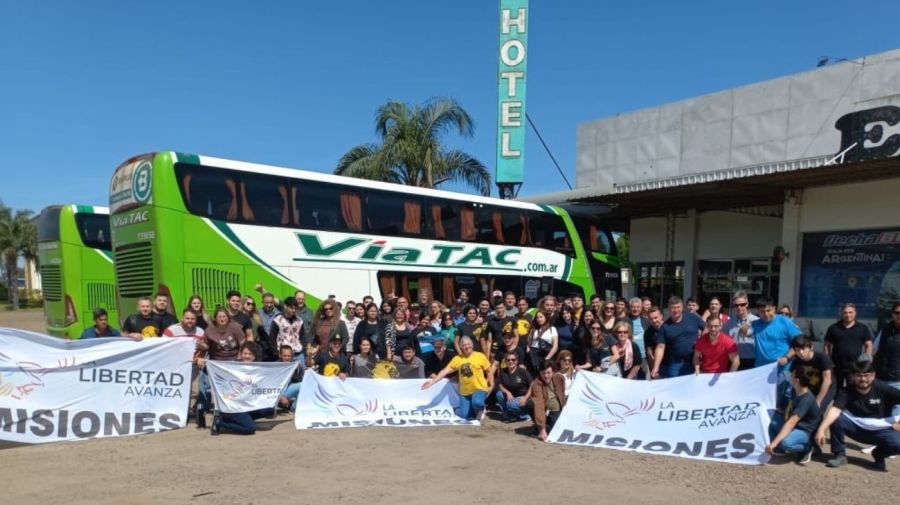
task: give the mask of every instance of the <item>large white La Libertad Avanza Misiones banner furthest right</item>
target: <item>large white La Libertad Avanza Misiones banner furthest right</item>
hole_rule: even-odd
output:
[[[638,381],[580,373],[548,441],[759,465],[776,365]]]

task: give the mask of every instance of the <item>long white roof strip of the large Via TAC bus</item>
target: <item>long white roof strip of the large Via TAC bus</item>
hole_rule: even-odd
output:
[[[347,177],[341,175],[329,174],[326,172],[312,172],[308,170],[300,170],[295,168],[286,168],[279,167],[273,165],[263,165],[259,163],[250,163],[246,161],[237,161],[237,160],[229,160],[225,158],[216,158],[213,156],[203,156],[203,155],[188,155],[184,153],[176,153],[171,152],[172,159],[180,162],[188,162],[193,163],[193,160],[190,158],[195,157],[196,160],[199,160],[200,165],[210,165],[219,168],[226,168],[231,170],[239,170],[243,172],[254,172],[258,174],[266,174],[266,175],[278,175],[282,177],[290,177],[293,179],[306,179],[306,180],[314,180],[321,182],[330,182],[333,184],[344,184],[348,186],[357,186],[362,188],[371,188],[371,189],[381,189],[385,191],[410,191],[413,189],[417,194],[421,194],[424,196],[432,196],[438,198],[447,198],[452,200],[462,200],[466,202],[472,203],[482,203],[487,205],[500,205],[504,207],[514,207],[519,209],[528,209],[528,210],[545,210],[545,207],[541,205],[537,205],[534,203],[528,202],[520,202],[515,200],[501,200],[499,198],[493,197],[485,197],[481,195],[471,195],[467,193],[459,193],[455,191],[443,191],[439,189],[427,189],[427,188],[413,188],[411,186],[406,186],[403,184],[394,184],[389,182],[379,182],[372,181],[367,179],[357,179],[355,177]],[[133,160],[136,157],[130,158],[128,161]],[[186,158],[188,160],[186,160]],[[128,163],[126,161],[125,163]],[[123,165],[125,164],[123,163]]]

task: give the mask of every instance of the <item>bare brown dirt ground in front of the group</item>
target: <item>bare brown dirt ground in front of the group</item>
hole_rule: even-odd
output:
[[[0,326],[41,330],[40,312]],[[851,465],[758,467],[542,443],[525,424],[296,431],[289,415],[256,435],[193,425],[127,438],[0,445],[2,502],[27,503],[889,503],[887,474]],[[893,498],[892,498],[893,497]]]

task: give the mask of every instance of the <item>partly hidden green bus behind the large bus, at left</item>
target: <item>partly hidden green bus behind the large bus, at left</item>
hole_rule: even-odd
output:
[[[116,321],[109,209],[53,205],[38,217],[38,261],[47,333],[75,339],[102,307]],[[111,323],[114,324],[114,323]]]

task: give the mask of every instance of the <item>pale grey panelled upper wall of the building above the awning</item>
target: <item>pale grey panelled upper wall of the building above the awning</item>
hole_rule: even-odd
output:
[[[576,185],[611,192],[614,184],[831,156],[841,151],[835,122],[900,106],[898,89],[893,50],[582,123]]]

